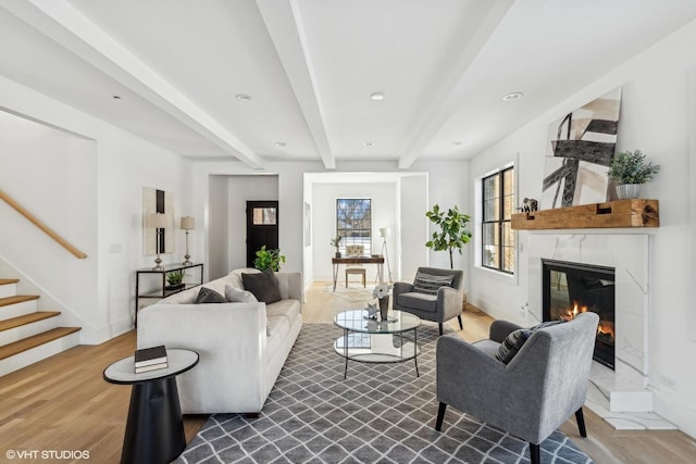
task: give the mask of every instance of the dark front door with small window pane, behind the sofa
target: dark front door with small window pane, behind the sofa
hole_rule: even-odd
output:
[[[247,201],[247,266],[253,267],[257,251],[278,248],[278,202]]]

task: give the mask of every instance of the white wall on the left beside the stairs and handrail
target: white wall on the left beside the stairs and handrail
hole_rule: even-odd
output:
[[[99,343],[130,329],[135,269],[153,265],[152,258],[142,254],[142,187],[173,192],[175,216],[192,215],[190,163],[4,77],[0,77],[0,109],[40,123],[33,127],[2,117],[0,133],[13,131],[20,124],[32,134],[17,137],[11,150],[0,150],[3,186],[11,185],[16,191],[10,195],[88,258],[66,258],[40,237],[25,240],[36,231],[10,220],[14,213],[5,206],[0,206],[8,214],[0,234],[9,237],[0,240],[0,255],[60,302],[62,323],[83,327],[82,343]],[[175,250],[162,256],[164,263],[183,259],[184,234],[176,236]],[[194,256],[200,255],[196,246]],[[16,253],[22,249],[29,251]]]

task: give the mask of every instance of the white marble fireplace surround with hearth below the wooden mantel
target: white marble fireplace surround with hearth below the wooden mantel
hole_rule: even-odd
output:
[[[529,308],[542,321],[542,259],[616,269],[616,371],[593,361],[585,405],[619,429],[675,428],[652,413],[648,389],[649,237],[530,233]]]

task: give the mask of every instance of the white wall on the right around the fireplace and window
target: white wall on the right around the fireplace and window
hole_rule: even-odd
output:
[[[473,181],[473,178],[511,161],[519,152],[519,197],[539,198],[548,125],[598,96],[622,87],[617,149],[639,149],[662,166],[662,171],[642,191],[644,198],[660,201],[660,227],[637,231],[650,236],[649,384],[656,391],[656,412],[691,436],[696,436],[693,401],[696,397],[696,371],[686,368],[684,363],[696,358],[696,343],[689,338],[689,331],[695,327],[689,323],[689,312],[693,311],[689,269],[694,264],[687,260],[687,186],[693,179],[689,179],[686,166],[693,156],[689,156],[687,115],[694,114],[688,110],[687,96],[696,90],[688,88],[688,70],[696,65],[696,55],[685,51],[695,47],[696,22],[692,22],[588,88],[569,96],[556,108],[482,152],[470,165]],[[473,204],[470,208],[473,211]],[[617,229],[596,233],[611,231],[617,233]],[[619,231],[636,233],[629,229]],[[470,298],[495,317],[523,321],[519,308],[529,298],[527,256],[523,250],[529,234],[518,233],[518,242],[522,247],[519,248],[518,279],[472,269]],[[676,380],[675,390],[664,385],[663,375]]]

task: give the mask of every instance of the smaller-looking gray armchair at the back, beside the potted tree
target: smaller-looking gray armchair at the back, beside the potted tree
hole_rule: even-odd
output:
[[[394,284],[393,308],[425,321],[436,322],[439,325],[439,335],[443,335],[443,323],[453,317],[459,319],[459,328],[463,329],[461,311],[464,299],[464,272],[439,267],[419,267],[418,271],[434,276],[455,277],[451,287],[440,287],[437,294],[421,293],[415,291],[413,284],[397,281]]]

